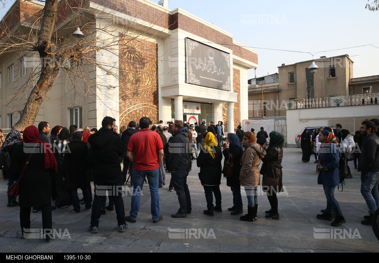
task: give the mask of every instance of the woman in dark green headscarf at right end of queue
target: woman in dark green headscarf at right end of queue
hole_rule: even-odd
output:
[[[262,168],[260,173],[263,175],[262,187],[263,191],[267,192],[267,198],[270,202],[271,209],[266,211],[266,218],[279,219],[278,199],[276,194],[283,191],[282,184],[282,159],[284,147],[284,135],[277,131],[271,131],[269,147],[266,150],[266,156],[262,159]],[[267,142],[263,147],[267,146]],[[276,188],[264,185],[265,177],[279,178],[279,183]]]

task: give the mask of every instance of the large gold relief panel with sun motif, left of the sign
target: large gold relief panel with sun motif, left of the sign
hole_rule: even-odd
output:
[[[157,44],[125,38],[119,55],[120,127],[141,117],[158,123]]]

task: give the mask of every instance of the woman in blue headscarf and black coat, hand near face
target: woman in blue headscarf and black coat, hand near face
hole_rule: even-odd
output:
[[[242,197],[241,197],[241,185],[240,185],[240,172],[241,172],[241,157],[243,149],[240,146],[240,139],[234,133],[228,133],[226,136],[226,142],[222,145],[224,151],[222,154],[225,157],[224,166],[229,159],[229,155],[233,158],[233,176],[226,178],[226,185],[230,186],[233,193],[233,207],[228,208],[229,211],[233,211],[230,214],[242,214]]]

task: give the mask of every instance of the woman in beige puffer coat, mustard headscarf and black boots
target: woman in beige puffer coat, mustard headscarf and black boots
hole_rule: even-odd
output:
[[[266,151],[257,144],[255,134],[246,131],[243,133],[245,150],[241,158],[240,183],[244,186],[247,197],[247,214],[241,216],[242,221],[253,222],[257,219],[258,196],[257,186],[260,182],[259,164],[265,157]]]

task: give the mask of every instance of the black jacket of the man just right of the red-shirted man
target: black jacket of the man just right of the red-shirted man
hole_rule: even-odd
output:
[[[191,168],[189,160],[189,139],[187,128],[180,128],[172,138],[169,139],[170,168],[171,171],[188,170]]]

